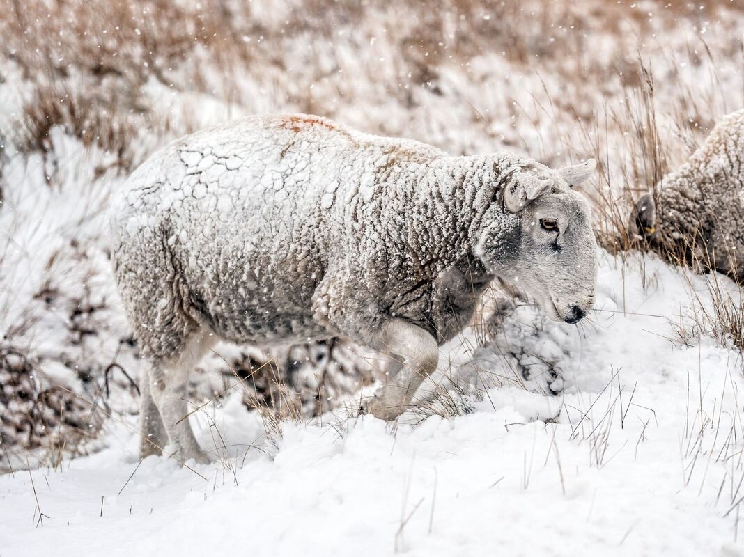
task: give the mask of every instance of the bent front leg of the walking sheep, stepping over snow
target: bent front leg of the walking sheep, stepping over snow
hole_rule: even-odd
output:
[[[389,358],[386,382],[362,411],[390,421],[410,408],[421,382],[437,369],[439,347],[429,332],[403,319],[386,322],[376,344]]]

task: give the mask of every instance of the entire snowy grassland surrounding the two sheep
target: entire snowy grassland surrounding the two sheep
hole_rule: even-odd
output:
[[[0,33],[2,556],[744,555],[739,287],[626,232],[744,106],[739,4],[33,0]],[[109,199],[167,141],[264,112],[597,159],[594,311],[494,285],[394,425],[356,415],[365,347],[219,344],[189,394],[214,463],[140,462]]]

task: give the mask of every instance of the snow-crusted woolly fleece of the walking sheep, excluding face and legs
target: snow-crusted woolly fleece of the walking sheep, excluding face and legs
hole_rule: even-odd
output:
[[[527,169],[554,176],[528,158],[450,157],[304,115],[190,135],[136,170],[112,212],[135,336],[155,359],[202,326],[238,343],[372,344],[403,315],[447,341],[492,278],[472,260],[484,227],[504,266],[517,257],[519,217],[493,201]]]

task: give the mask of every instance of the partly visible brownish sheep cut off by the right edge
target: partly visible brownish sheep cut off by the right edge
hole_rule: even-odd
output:
[[[744,109],[638,199],[629,233],[670,260],[744,282]]]

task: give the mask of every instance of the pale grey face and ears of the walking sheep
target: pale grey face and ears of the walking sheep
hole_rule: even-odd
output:
[[[506,235],[503,225],[486,227],[476,247],[490,272],[536,298],[556,321],[577,323],[594,305],[597,244],[589,204],[572,188],[595,166],[590,159],[557,171],[522,168],[503,196],[507,218],[516,222]]]

